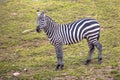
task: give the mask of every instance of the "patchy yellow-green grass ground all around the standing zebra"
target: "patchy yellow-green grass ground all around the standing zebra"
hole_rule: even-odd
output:
[[[0,0],[0,80],[119,80],[120,79],[120,1],[119,0]],[[56,55],[44,32],[36,28],[39,8],[58,23],[92,17],[102,31],[103,63],[97,64],[97,51],[85,66],[86,40],[65,45],[65,67],[55,71]],[[27,71],[24,71],[27,69]],[[14,72],[19,72],[17,77]]]

